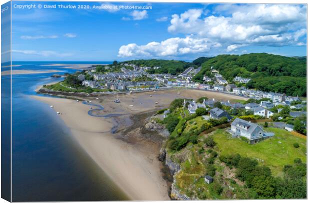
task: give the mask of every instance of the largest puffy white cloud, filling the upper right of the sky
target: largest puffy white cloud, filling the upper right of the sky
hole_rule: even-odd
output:
[[[229,7],[221,6],[221,11]],[[220,43],[259,43],[262,38],[271,43],[289,39],[286,44],[296,43],[303,36],[306,7],[292,4],[250,4],[233,6],[231,15],[202,16],[202,9],[189,9],[173,14],[168,27],[172,33],[195,34]],[[300,29],[295,33],[295,30]],[[283,36],[284,35],[284,36]],[[277,44],[279,45],[279,44]]]

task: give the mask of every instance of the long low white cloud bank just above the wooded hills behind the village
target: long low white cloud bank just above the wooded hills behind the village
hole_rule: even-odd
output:
[[[118,50],[119,57],[164,57],[182,54],[192,54],[208,51],[212,47],[220,47],[221,44],[212,42],[208,38],[168,38],[166,40],[156,42],[152,41],[145,45],[137,45],[129,43],[122,45]]]

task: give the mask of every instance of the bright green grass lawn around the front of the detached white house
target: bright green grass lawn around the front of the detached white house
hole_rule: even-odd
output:
[[[306,162],[306,140],[292,135],[290,132],[267,127],[266,131],[275,135],[255,144],[248,144],[240,138],[232,138],[224,129],[213,133],[216,149],[222,154],[239,153],[241,156],[256,158],[260,164],[270,167],[273,175],[281,176],[285,164],[292,164],[295,158]],[[299,144],[298,148],[293,143]]]

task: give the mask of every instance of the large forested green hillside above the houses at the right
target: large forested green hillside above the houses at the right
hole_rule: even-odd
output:
[[[246,84],[248,88],[306,95],[306,62],[299,58],[267,53],[218,55],[201,66],[194,81],[202,82],[203,75],[211,74],[210,67],[213,66],[228,80],[235,76],[250,77]]]

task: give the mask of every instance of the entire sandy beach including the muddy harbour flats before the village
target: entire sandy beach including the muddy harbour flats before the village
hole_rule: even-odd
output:
[[[70,128],[80,146],[132,200],[169,199],[167,182],[162,178],[162,163],[157,159],[161,143],[145,138],[148,135],[144,137],[138,128],[126,130],[131,124],[144,124],[144,118],[133,121],[132,116],[167,107],[175,98],[207,96],[216,100],[246,99],[219,92],[177,88],[119,94],[119,103],[113,102],[114,96],[105,94],[96,99],[89,95],[87,98],[79,97],[80,101],[42,96],[33,98],[53,105],[53,109],[60,112],[59,117]],[[91,106],[81,103],[85,99],[104,106],[104,109],[94,110],[94,114],[117,114],[120,117],[87,114]],[[116,124],[119,130],[112,133],[111,129]]]

